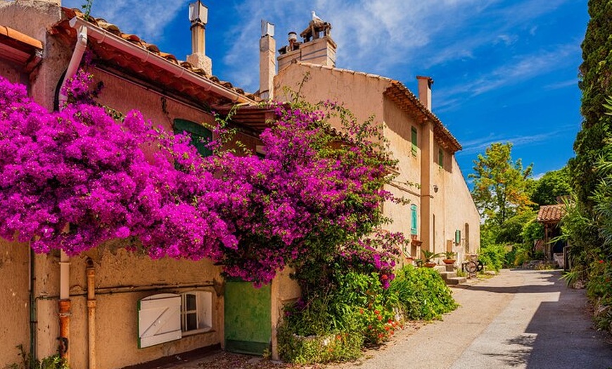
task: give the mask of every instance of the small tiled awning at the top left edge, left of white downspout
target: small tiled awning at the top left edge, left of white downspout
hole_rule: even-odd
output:
[[[42,57],[42,42],[0,25],[0,58],[20,65],[36,63]]]

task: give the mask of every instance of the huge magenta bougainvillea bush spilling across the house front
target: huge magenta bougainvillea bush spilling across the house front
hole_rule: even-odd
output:
[[[329,258],[393,278],[398,236],[371,236],[393,166],[372,125],[334,104],[326,113],[279,104],[261,135],[265,158],[203,158],[190,137],[139,111],[114,119],[95,104],[91,79],[79,71],[68,104],[49,112],[0,77],[2,237],[69,255],[118,237],[153,258],[209,258],[255,284]],[[340,143],[331,115],[346,123]]]

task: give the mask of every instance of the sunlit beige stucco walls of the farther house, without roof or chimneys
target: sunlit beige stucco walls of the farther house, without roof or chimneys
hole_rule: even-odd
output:
[[[475,252],[479,245],[480,218],[476,206],[473,204],[471,195],[465,179],[459,170],[457,161],[449,151],[444,151],[443,165],[438,164],[438,149],[440,148],[437,137],[433,137],[431,147],[431,186],[436,184],[438,192],[433,189],[411,187],[406,182],[423,184],[423,130],[425,126],[416,122],[412,115],[404,113],[397,105],[383,95],[389,86],[390,80],[374,77],[364,73],[352,71],[334,70],[332,68],[317,65],[300,65],[293,63],[288,65],[275,78],[275,89],[278,92],[277,99],[282,100],[282,87],[288,86],[297,90],[305,75],[309,75],[307,82],[302,86],[301,94],[310,102],[338,101],[343,103],[355,114],[358,120],[365,120],[372,114],[375,122],[382,122],[384,134],[390,144],[390,151],[398,160],[397,168],[399,175],[393,184],[385,187],[394,196],[409,199],[412,204],[418,206],[418,239],[427,239],[423,232],[430,234],[433,247],[431,251],[436,253],[450,249],[463,257],[466,241],[465,228],[469,225],[470,251]],[[412,127],[417,130],[416,156],[412,154]],[[421,216],[423,196],[431,194],[431,213],[429,220]],[[388,225],[390,231],[410,233],[411,218],[409,206],[402,206],[386,202],[383,213],[393,219],[393,224]],[[431,222],[427,227],[426,222]],[[455,230],[461,230],[461,243],[452,244]],[[429,245],[423,244],[423,247]],[[419,257],[419,250],[411,248],[411,253]]]

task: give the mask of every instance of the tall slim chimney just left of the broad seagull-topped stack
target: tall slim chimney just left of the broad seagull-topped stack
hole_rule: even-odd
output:
[[[276,40],[274,25],[262,20],[260,39],[260,97],[274,99],[274,75],[276,74]]]

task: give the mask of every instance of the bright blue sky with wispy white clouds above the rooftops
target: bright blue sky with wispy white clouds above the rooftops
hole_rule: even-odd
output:
[[[64,0],[79,7],[84,0]],[[189,0],[94,0],[91,12],[184,60],[191,53]],[[433,77],[433,112],[464,146],[471,173],[492,142],[535,176],[573,156],[580,130],[578,67],[587,0],[203,1],[213,74],[248,92],[258,88],[260,20],[276,25],[276,44],[300,32],[314,10],[332,26],[338,68],[400,80]]]

